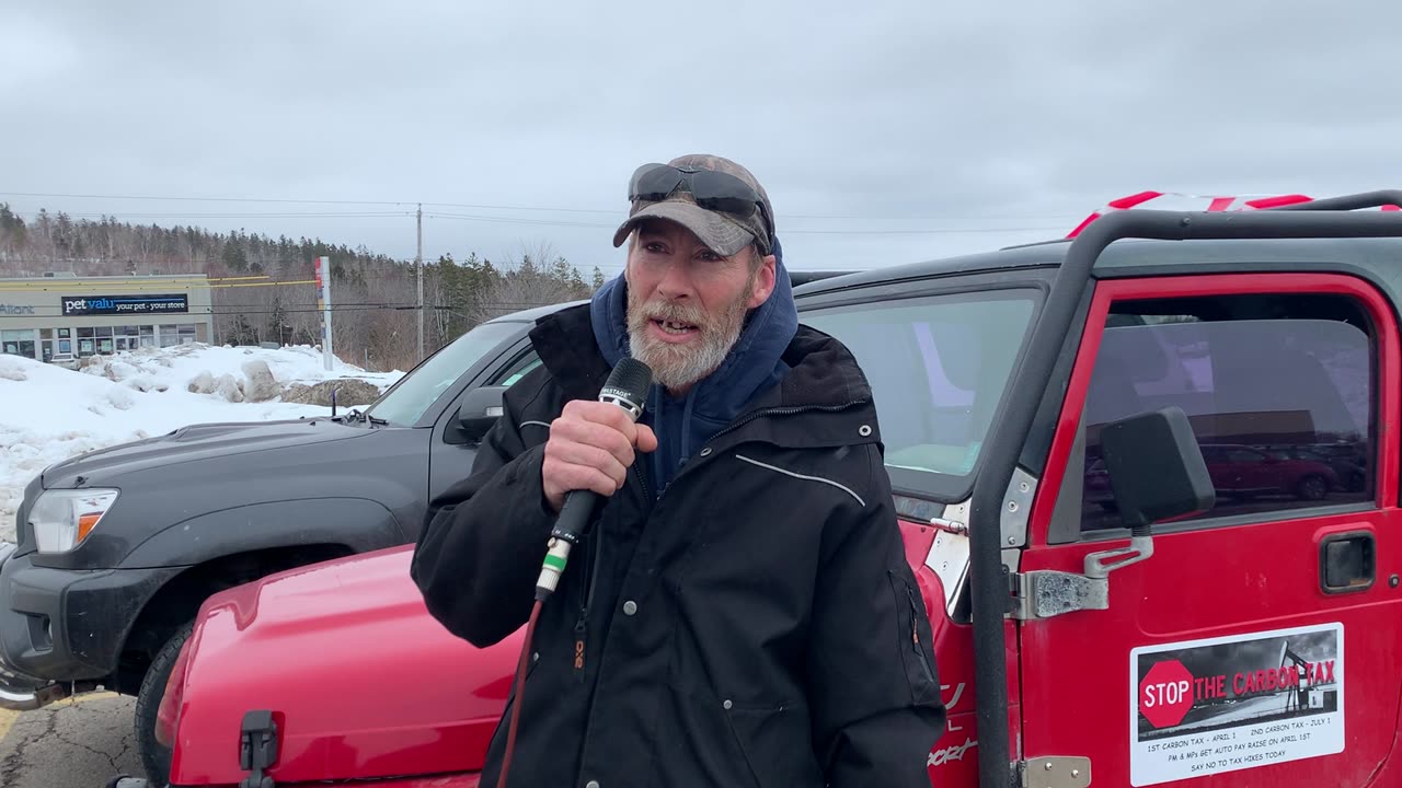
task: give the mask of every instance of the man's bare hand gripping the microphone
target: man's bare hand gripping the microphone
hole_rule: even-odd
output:
[[[656,449],[658,436],[652,428],[634,423],[618,405],[572,400],[550,425],[540,470],[545,501],[559,512],[565,494],[572,489],[610,496],[627,481],[634,450]]]

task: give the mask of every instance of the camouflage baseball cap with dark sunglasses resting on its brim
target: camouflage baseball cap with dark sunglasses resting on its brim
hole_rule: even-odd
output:
[[[614,248],[644,220],[666,219],[691,230],[707,248],[725,257],[751,243],[760,254],[774,251],[770,198],[749,170],[729,158],[688,154],[666,165],[644,164],[628,184],[628,198],[632,208],[614,233]]]

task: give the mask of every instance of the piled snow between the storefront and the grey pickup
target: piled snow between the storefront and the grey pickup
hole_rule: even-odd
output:
[[[102,356],[77,372],[0,355],[0,541],[14,540],[24,487],[60,460],[189,423],[328,414],[321,405],[282,402],[278,397],[248,401],[245,393],[254,393],[245,369],[250,362],[265,362],[279,390],[292,383],[311,386],[353,377],[383,391],[404,374],[366,373],[339,360],[327,372],[321,352],[308,346],[143,348]],[[251,366],[258,369],[257,363]],[[196,391],[191,391],[192,384]],[[266,384],[264,380],[265,390]]]

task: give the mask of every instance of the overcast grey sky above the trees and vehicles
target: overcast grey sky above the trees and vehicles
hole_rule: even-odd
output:
[[[754,171],[792,268],[1063,236],[1143,189],[1402,186],[1402,3],[1326,8],[0,0],[0,201],[401,258],[422,201],[426,258],[614,273],[628,175],[681,153]]]

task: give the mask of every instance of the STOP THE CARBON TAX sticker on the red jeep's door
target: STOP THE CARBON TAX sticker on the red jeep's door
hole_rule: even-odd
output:
[[[1130,782],[1343,752],[1343,624],[1130,652]]]

